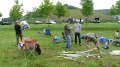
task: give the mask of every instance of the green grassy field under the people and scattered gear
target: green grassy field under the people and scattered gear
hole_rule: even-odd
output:
[[[120,56],[108,54],[109,51],[120,49],[120,47],[110,45],[110,49],[104,50],[101,44],[100,50],[107,53],[101,55],[101,59],[86,57],[79,57],[76,60],[65,59],[58,57],[61,50],[84,51],[87,49],[84,45],[74,46],[74,42],[72,42],[71,50],[65,48],[65,42],[61,35],[64,24],[55,24],[49,27],[45,24],[31,24],[30,27],[30,30],[23,31],[23,36],[38,40],[42,50],[41,55],[37,57],[32,54],[25,58],[25,55],[28,56],[28,52],[23,54],[21,50],[17,49],[14,26],[0,25],[0,67],[120,67]],[[71,24],[71,27],[73,27],[73,24]],[[53,43],[52,37],[43,33],[44,29],[50,29],[53,35],[61,38],[61,42]],[[114,32],[119,29],[120,24],[82,24],[81,34],[94,32],[98,33],[99,37],[104,36],[113,39]],[[38,34],[38,32],[42,34]],[[93,46],[92,43],[91,46]],[[97,52],[93,51],[93,53]]]

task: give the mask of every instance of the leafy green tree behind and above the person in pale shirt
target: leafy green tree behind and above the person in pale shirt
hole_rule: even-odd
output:
[[[86,22],[87,17],[93,14],[94,7],[93,7],[93,1],[92,0],[81,0],[81,13],[86,17]]]

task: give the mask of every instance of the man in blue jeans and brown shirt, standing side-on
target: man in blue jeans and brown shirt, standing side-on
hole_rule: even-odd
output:
[[[66,24],[64,26],[64,33],[66,38],[66,48],[71,48],[71,28],[70,28],[70,22],[66,21]]]

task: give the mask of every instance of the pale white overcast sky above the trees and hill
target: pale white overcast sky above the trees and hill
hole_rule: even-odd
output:
[[[19,0],[20,3],[23,4],[24,14],[27,11],[32,11],[33,8],[37,8],[43,0]],[[69,4],[75,7],[80,6],[80,0],[50,0],[53,4],[56,4],[60,1],[62,4]],[[112,5],[114,5],[118,0],[93,0],[94,9],[110,9]],[[0,0],[0,12],[2,13],[2,17],[9,17],[9,11],[14,5],[14,0]]]

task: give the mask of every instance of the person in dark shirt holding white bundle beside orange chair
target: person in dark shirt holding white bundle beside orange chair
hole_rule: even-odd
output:
[[[21,30],[21,26],[20,26],[19,21],[16,21],[14,28],[15,28],[15,32],[16,32],[16,42],[17,42],[17,45],[18,45],[19,38],[22,41],[22,30]]]

